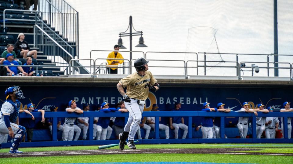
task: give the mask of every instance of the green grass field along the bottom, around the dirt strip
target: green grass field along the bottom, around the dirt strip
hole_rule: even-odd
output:
[[[261,148],[257,151],[267,153],[293,153],[293,144],[171,144],[136,145],[137,149],[191,149],[191,148]],[[98,146],[20,148],[24,152],[97,150]],[[118,149],[113,147],[110,149]],[[6,153],[9,149],[1,149]],[[50,157],[0,158],[0,163],[88,163],[88,162],[215,162],[215,163],[293,163],[293,156],[280,155],[231,155],[231,154],[173,154],[142,153],[116,155],[73,155]]]

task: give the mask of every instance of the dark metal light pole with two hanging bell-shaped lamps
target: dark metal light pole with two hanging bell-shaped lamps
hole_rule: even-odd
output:
[[[130,28],[129,28],[130,27]],[[123,46],[122,44],[122,39],[121,37],[124,37],[124,36],[129,36],[129,41],[130,41],[130,60],[132,60],[132,36],[140,36],[139,37],[139,44],[136,45],[136,47],[147,47],[144,43],[143,43],[143,31],[136,31],[134,29],[134,31],[136,32],[132,32],[132,28],[134,29],[133,25],[132,25],[132,16],[130,15],[129,16],[129,25],[128,25],[128,28],[125,32],[120,32],[119,33],[119,39],[118,39],[118,45],[121,49],[125,49],[126,47]],[[129,29],[129,33],[126,33]]]

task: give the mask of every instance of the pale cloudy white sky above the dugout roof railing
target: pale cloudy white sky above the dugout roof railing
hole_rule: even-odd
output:
[[[213,34],[221,53],[273,53],[273,0],[67,0],[79,12],[80,58],[89,58],[91,50],[113,50],[119,32],[124,32],[132,15],[133,26],[143,31],[147,48],[135,47],[139,36],[133,36],[133,51],[216,52]],[[278,1],[279,54],[293,54],[293,1]],[[190,32],[190,33],[189,33]],[[189,38],[188,38],[189,37]],[[129,50],[129,37],[122,37]],[[122,50],[122,49],[121,49]],[[93,58],[106,58],[95,53]],[[122,53],[129,59],[128,53]],[[139,54],[134,54],[137,58]],[[190,60],[181,54],[150,54],[149,59]],[[219,59],[215,58],[214,60]],[[290,58],[290,61],[293,58]],[[225,59],[226,61],[231,61]],[[234,60],[234,58],[233,58]],[[288,60],[288,58],[286,59]],[[101,61],[102,62],[102,61]]]

